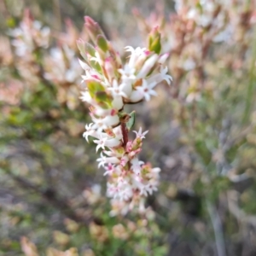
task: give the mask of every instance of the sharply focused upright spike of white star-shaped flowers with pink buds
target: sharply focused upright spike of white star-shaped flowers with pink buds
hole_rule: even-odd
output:
[[[102,149],[97,161],[106,170],[104,175],[108,175],[107,195],[113,198],[113,204],[122,201],[127,209],[137,205],[143,211],[143,197],[157,190],[160,168],[138,160],[148,131],[143,132],[142,128],[134,131],[136,137],[130,141],[128,131],[134,115],[123,110],[125,104],[149,101],[151,96],[156,96],[154,87],[160,82],[166,80],[170,84],[172,77],[163,67],[168,55],[160,55],[160,33],[154,28],[149,34],[148,49],[125,48],[130,56],[123,65],[100,26],[85,17],[85,27],[95,46],[78,41],[84,58],[79,61],[85,71],[82,83],[86,84],[81,99],[90,103],[93,121],[85,125],[84,137],[87,141],[93,137],[96,151]]]

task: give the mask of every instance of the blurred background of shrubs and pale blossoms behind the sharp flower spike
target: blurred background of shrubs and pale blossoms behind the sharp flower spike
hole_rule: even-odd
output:
[[[252,0],[0,2],[0,255],[256,255]],[[84,15],[125,61],[159,26],[171,86],[132,105],[160,186],[144,214],[105,196],[79,99]]]

